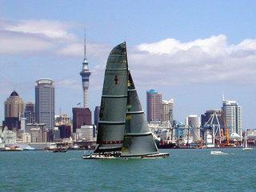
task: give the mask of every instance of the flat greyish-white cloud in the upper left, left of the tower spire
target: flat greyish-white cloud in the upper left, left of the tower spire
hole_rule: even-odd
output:
[[[67,22],[47,20],[0,20],[0,54],[55,52],[60,46],[74,43]]]

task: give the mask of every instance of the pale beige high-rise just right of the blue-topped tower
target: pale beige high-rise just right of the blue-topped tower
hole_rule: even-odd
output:
[[[169,101],[162,100],[162,122],[170,122],[170,125],[174,121],[174,99]]]

